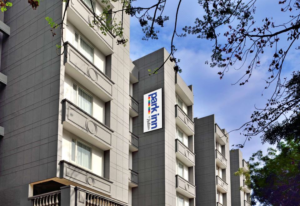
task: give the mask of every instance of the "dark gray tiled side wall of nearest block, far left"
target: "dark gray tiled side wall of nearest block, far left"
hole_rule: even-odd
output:
[[[62,18],[62,1],[41,1],[37,10],[26,0],[15,0],[4,13],[10,36],[3,37],[1,73],[7,86],[0,89],[0,202],[24,205],[28,184],[55,177],[58,163],[58,108],[60,56],[45,20]],[[5,200],[5,201],[4,201]],[[21,201],[21,203],[20,203]]]

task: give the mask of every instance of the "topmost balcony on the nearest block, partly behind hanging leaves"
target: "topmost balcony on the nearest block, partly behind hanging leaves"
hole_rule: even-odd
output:
[[[113,34],[104,35],[97,26],[94,28],[89,26],[93,23],[94,16],[92,10],[82,0],[73,0],[72,3],[69,3],[67,20],[77,27],[105,56],[113,53]],[[97,17],[96,21],[99,21]]]

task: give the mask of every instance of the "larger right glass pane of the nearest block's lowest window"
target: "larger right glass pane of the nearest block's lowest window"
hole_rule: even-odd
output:
[[[91,169],[91,148],[81,142],[77,142],[77,164]]]

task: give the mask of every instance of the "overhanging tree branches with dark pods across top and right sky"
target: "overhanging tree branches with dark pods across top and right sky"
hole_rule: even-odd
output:
[[[53,22],[51,17],[46,17],[53,35],[56,35],[55,29],[58,27],[60,27],[62,34],[64,31],[63,22],[70,0],[62,1],[65,8],[61,22]],[[169,17],[165,15],[165,7],[166,2],[171,2],[170,0],[148,1],[150,6],[147,7],[143,7],[136,0],[100,0],[103,5],[107,5],[103,8],[102,13],[96,13],[92,0],[90,1],[93,14],[90,27],[98,27],[104,35],[112,34],[116,38],[117,44],[121,45],[126,45],[128,42],[128,39],[123,35],[125,14],[138,19],[144,33],[143,40],[158,39],[164,23],[169,20]],[[114,2],[120,2],[122,7],[111,8],[109,3]],[[292,91],[288,91],[289,89],[298,90],[299,84],[296,78],[299,77],[299,72],[292,74],[291,79],[294,79],[293,81],[282,77],[281,74],[285,59],[290,51],[300,49],[300,46],[297,45],[300,35],[300,0],[277,0],[275,2],[281,6],[280,10],[272,14],[268,13],[268,16],[263,19],[255,19],[253,14],[256,12],[257,0],[197,0],[199,10],[202,10],[204,15],[199,15],[194,22],[187,20],[187,25],[181,33],[177,25],[178,13],[182,3],[190,2],[176,1],[174,29],[170,31],[172,33],[170,55],[165,60],[165,62],[170,60],[175,63],[175,72],[182,70],[178,65],[180,60],[175,57],[176,48],[173,40],[175,37],[185,37],[189,34],[213,42],[212,55],[206,64],[218,69],[220,79],[224,77],[226,71],[232,68],[244,71],[244,74],[237,77],[237,81],[234,83],[240,86],[250,81],[252,72],[261,65],[262,57],[265,57],[266,53],[272,53],[272,55],[267,56],[271,63],[265,68],[269,72],[265,89],[269,88],[272,83],[275,84],[275,89],[266,102],[266,106],[261,109],[256,108],[250,118],[251,120],[242,125],[243,134],[246,136],[245,141],[250,140],[254,135],[263,134],[272,125],[279,124],[276,121],[280,117],[287,115],[287,121],[289,121],[299,113],[299,96],[293,94],[289,96]],[[28,3],[33,9],[36,9],[40,1],[28,0]],[[2,11],[5,11],[6,7],[9,6],[11,4],[1,3],[0,0]],[[278,13],[285,15],[286,18],[274,22],[272,16],[275,17]],[[227,26],[228,29],[221,34],[224,26]],[[64,42],[62,45],[57,45],[58,54],[63,54],[65,49]],[[299,60],[295,59],[295,61]],[[154,69],[149,68],[149,74],[157,73],[163,64]],[[289,98],[285,98],[285,95],[288,95]],[[273,140],[272,136],[266,138],[264,135],[262,135],[262,140],[270,143],[280,141],[280,139]],[[238,146],[243,147],[244,144]]]

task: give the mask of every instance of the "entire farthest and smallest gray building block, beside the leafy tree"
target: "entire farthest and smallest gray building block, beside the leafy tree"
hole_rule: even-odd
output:
[[[251,190],[245,185],[245,177],[234,175],[239,168],[247,171],[249,162],[243,159],[241,150],[230,150],[231,204],[232,206],[250,206]]]

